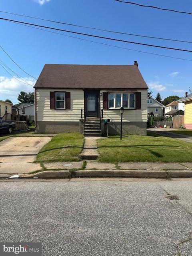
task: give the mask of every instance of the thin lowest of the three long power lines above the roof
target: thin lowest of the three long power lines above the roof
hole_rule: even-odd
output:
[[[22,26],[26,26],[26,27],[29,27],[29,28],[35,28],[35,29],[38,29],[38,30],[50,32],[50,33],[53,33],[53,34],[58,34],[58,35],[61,35],[61,36],[67,36],[67,37],[76,38],[76,39],[79,39],[79,40],[84,40],[84,41],[88,41],[88,42],[92,42],[92,43],[96,43],[96,44],[102,44],[102,45],[106,45],[106,46],[116,47],[116,48],[120,48],[120,49],[124,49],[124,50],[130,50],[130,51],[134,51],[134,52],[142,52],[142,53],[146,53],[146,54],[157,55],[157,56],[160,56],[160,57],[174,58],[174,59],[178,59],[178,60],[192,61],[192,60],[189,60],[189,59],[177,58],[177,57],[173,57],[173,56],[156,54],[156,53],[152,53],[152,52],[144,52],[144,51],[139,51],[139,50],[133,50],[133,49],[129,49],[129,48],[121,47],[121,46],[115,46],[115,45],[112,45],[112,44],[104,44],[104,43],[100,43],[100,42],[96,42],[96,41],[92,41],[92,40],[88,40],[88,39],[84,39],[84,38],[79,38],[79,37],[75,37],[75,36],[68,36],[68,35],[65,35],[65,34],[58,33],[58,32],[53,32],[53,31],[50,31],[50,30],[42,29],[42,28],[36,28],[36,27],[33,27],[33,26],[20,24],[20,23],[17,23],[17,22],[12,22],[12,23],[22,25]]]

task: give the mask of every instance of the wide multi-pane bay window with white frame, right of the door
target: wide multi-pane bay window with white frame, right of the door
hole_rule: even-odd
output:
[[[109,108],[135,108],[135,93],[109,93],[108,94]]]

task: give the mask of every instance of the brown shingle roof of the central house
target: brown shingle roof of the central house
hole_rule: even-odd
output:
[[[45,64],[35,88],[147,89],[136,65]]]

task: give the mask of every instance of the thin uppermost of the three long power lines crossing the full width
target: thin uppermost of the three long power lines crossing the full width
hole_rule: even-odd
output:
[[[76,27],[79,27],[79,28],[90,28],[90,29],[94,29],[94,30],[99,30],[99,31],[104,31],[104,32],[111,32],[111,33],[128,35],[128,36],[139,36],[139,37],[144,37],[144,38],[153,38],[153,39],[168,40],[168,41],[183,42],[183,43],[190,43],[190,44],[192,44],[192,42],[190,42],[190,41],[176,40],[176,39],[170,39],[170,38],[161,38],[161,37],[155,37],[155,36],[144,36],[144,35],[138,35],[138,34],[118,32],[118,31],[114,31],[114,30],[106,30],[106,29],[101,29],[101,28],[93,28],[93,27],[88,27],[88,26],[80,26],[80,25],[77,25],[77,24],[71,24],[71,23],[66,23],[66,22],[59,22],[59,21],[56,21],[56,20],[46,20],[46,19],[43,19],[43,18],[37,18],[37,17],[23,15],[23,14],[16,14],[16,13],[12,13],[12,12],[4,12],[4,11],[0,11],[0,12],[7,13],[7,14],[12,14],[12,15],[17,15],[17,16],[22,16],[22,17],[27,17],[27,18],[32,18],[32,19],[37,19],[37,20],[44,20],[44,21],[48,21],[48,22],[54,22],[54,23],[58,23],[58,24],[64,24],[64,25],[68,25],[68,26],[76,26]]]

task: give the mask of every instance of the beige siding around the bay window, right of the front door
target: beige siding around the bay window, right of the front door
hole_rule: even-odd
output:
[[[106,92],[106,90],[101,90],[101,92]],[[137,92],[141,92],[141,109],[125,109],[124,122],[147,122],[147,90],[137,90]],[[103,108],[102,97],[100,97],[100,108]],[[120,110],[103,110],[103,118],[120,122]]]

